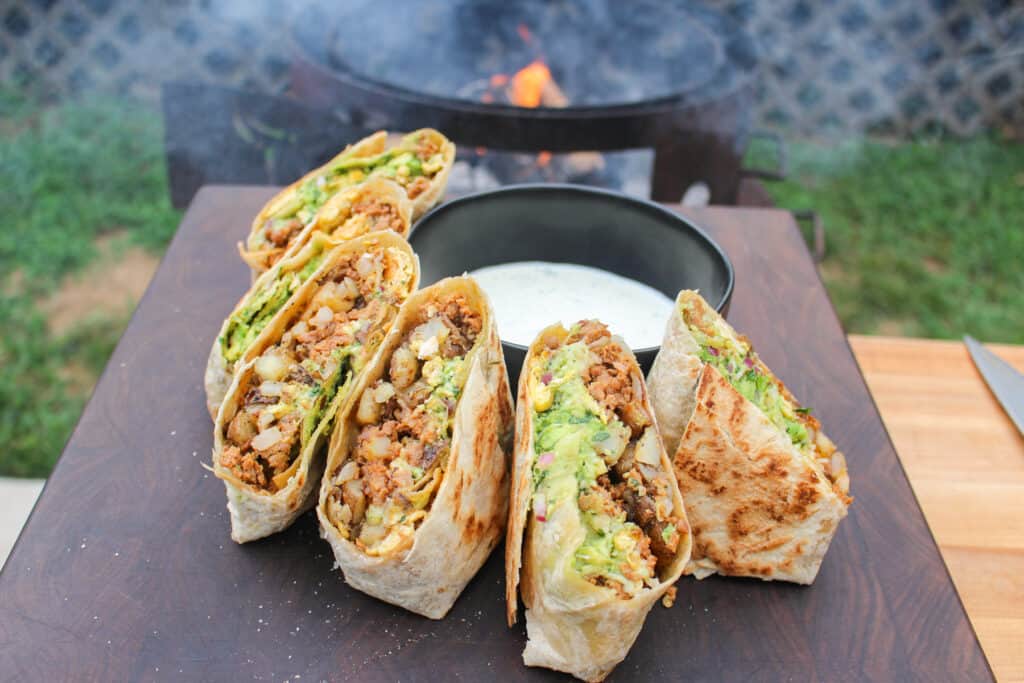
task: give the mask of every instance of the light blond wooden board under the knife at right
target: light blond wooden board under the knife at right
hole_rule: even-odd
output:
[[[964,344],[850,345],[996,677],[1024,681],[1024,438]],[[989,348],[1024,372],[1024,347]]]

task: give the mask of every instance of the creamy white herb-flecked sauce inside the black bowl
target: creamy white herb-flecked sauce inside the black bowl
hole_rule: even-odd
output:
[[[574,263],[520,261],[472,271],[490,298],[502,339],[529,346],[561,322],[597,318],[632,348],[662,343],[673,301],[642,283]]]

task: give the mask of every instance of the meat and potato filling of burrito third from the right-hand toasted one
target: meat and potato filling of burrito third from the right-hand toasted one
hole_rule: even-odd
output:
[[[256,358],[220,454],[242,482],[279,490],[303,450],[329,433],[336,403],[374,350],[368,337],[406,296],[410,275],[389,251],[341,259],[281,340]]]

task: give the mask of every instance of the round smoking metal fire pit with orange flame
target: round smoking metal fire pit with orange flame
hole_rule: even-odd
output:
[[[705,182],[735,201],[757,56],[725,15],[611,0],[381,7],[299,14],[292,90],[305,103],[367,127],[439,128],[500,182],[615,186],[635,161],[579,153],[646,147],[653,199]]]

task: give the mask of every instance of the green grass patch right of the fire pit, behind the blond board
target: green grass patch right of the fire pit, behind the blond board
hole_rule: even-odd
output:
[[[787,209],[822,217],[851,333],[1024,343],[1024,144],[979,136],[791,143]]]

